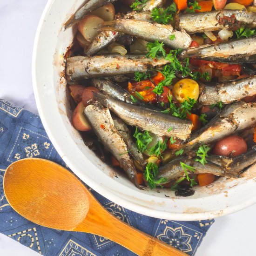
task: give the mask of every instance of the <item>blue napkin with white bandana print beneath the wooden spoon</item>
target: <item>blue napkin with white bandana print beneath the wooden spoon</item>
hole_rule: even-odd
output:
[[[134,256],[135,254],[102,236],[48,229],[29,222],[8,204],[3,191],[5,169],[14,161],[40,157],[65,167],[53,147],[38,115],[0,100],[0,232],[46,256]],[[112,214],[165,243],[195,255],[214,220],[178,222],[144,216],[109,201],[90,189]]]

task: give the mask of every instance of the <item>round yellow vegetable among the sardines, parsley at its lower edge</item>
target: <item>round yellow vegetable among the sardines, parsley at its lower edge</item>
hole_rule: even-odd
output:
[[[172,94],[181,103],[185,100],[188,101],[189,98],[197,101],[199,97],[199,85],[192,79],[184,78],[175,83]]]

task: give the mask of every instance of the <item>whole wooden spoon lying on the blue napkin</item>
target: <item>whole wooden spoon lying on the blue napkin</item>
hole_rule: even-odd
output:
[[[13,209],[41,226],[104,236],[141,256],[186,255],[110,214],[79,179],[54,162],[13,162],[3,185]]]

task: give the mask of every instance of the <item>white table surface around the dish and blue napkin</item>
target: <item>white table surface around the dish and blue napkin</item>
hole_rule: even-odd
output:
[[[0,0],[0,98],[37,113],[31,79],[36,27],[47,0]],[[248,191],[249,193],[249,191]],[[253,256],[256,205],[219,217],[196,256]],[[0,234],[0,256],[36,256],[31,249]]]

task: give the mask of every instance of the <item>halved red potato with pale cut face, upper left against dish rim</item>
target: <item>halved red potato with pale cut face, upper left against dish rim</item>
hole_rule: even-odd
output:
[[[78,30],[83,35],[85,40],[92,42],[94,37],[100,33],[97,30],[97,26],[104,22],[100,17],[96,15],[87,15],[78,23]]]

